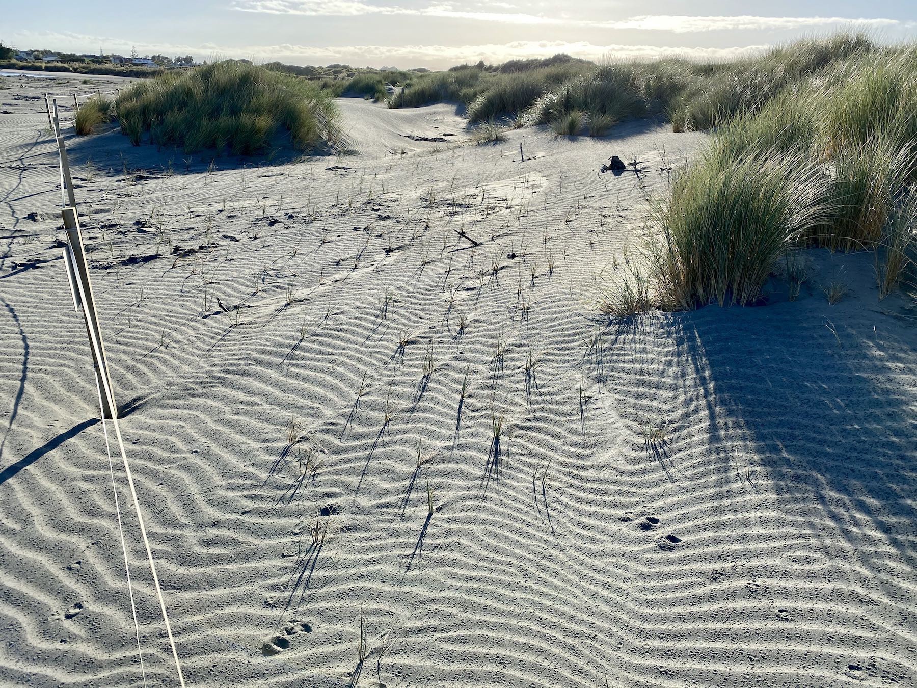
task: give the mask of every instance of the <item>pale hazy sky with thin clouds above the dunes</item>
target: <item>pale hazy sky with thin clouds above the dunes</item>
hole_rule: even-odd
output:
[[[599,60],[723,59],[842,28],[917,38],[913,0],[41,0],[0,16],[19,50],[192,54],[355,67],[444,69],[566,52]],[[651,14],[650,14],[651,13]]]

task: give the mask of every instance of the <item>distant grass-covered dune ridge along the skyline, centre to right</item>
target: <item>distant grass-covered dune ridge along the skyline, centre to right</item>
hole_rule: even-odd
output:
[[[468,105],[472,122],[516,115],[525,124],[547,124],[575,110],[604,121],[657,114],[668,117],[676,131],[703,130],[755,113],[788,86],[830,72],[839,63],[863,60],[875,50],[864,34],[840,33],[735,61],[611,59],[596,65],[555,56],[516,61],[506,70],[510,63],[462,65],[415,75],[389,104],[460,102]]]

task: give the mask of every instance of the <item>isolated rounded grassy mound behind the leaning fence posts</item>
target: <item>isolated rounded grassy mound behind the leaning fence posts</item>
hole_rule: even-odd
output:
[[[122,133],[139,145],[255,155],[289,136],[297,150],[342,146],[337,106],[314,83],[238,61],[166,72],[116,101]]]

